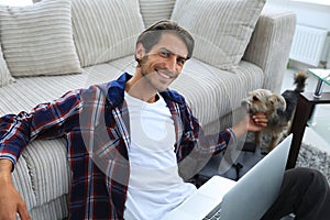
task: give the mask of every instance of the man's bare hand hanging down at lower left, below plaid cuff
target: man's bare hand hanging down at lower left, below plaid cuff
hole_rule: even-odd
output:
[[[16,213],[22,220],[31,219],[26,206],[11,180],[12,164],[0,160],[0,219],[15,220]]]

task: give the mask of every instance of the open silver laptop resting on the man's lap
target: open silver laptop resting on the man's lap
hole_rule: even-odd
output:
[[[221,176],[211,177],[163,220],[261,219],[278,196],[292,140],[293,134],[239,182]]]

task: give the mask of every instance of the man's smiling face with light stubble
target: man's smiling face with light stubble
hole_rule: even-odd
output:
[[[157,91],[164,91],[178,77],[188,50],[178,36],[164,33],[160,42],[142,57],[141,73]]]

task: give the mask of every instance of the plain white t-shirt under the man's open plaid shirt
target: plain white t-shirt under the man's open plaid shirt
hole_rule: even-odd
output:
[[[175,127],[165,100],[147,103],[125,92],[130,113],[130,180],[124,219],[161,219],[196,187],[178,175]]]

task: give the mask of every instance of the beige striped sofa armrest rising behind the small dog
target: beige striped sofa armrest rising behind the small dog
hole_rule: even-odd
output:
[[[271,8],[262,11],[243,59],[263,69],[263,88],[279,92],[295,28],[294,12]]]

